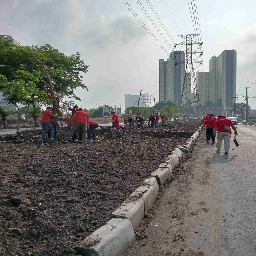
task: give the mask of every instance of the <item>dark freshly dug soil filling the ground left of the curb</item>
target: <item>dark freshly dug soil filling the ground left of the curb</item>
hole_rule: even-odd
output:
[[[42,142],[36,130],[0,136],[0,255],[76,254],[73,247],[187,140],[96,133],[105,138],[86,144]]]

